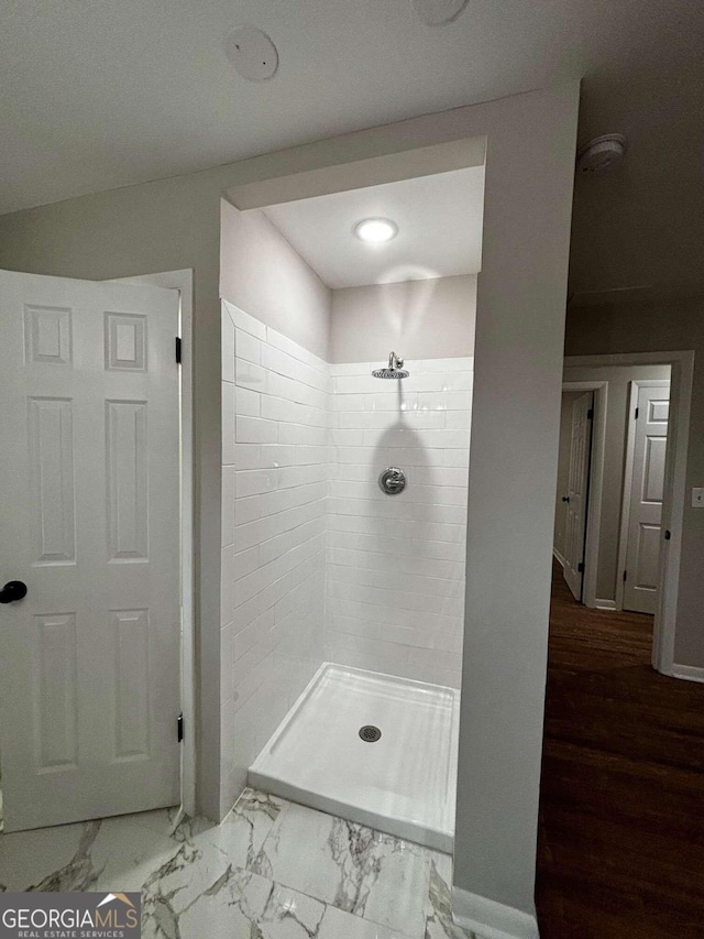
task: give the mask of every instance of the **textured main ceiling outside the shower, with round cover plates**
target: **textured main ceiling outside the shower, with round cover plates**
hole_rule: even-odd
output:
[[[0,211],[583,76],[580,139],[620,131],[579,179],[571,288],[704,290],[701,0],[470,0],[425,26],[410,0],[0,0]],[[248,83],[229,30],[274,40]]]

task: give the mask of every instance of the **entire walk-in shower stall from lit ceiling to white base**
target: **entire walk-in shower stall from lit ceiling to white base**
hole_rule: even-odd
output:
[[[449,203],[481,232],[483,167],[442,186],[464,195],[420,200],[436,247]],[[351,241],[348,284],[333,236],[305,240],[309,212],[349,240],[361,209],[339,195],[223,207],[257,276],[222,304],[221,811],[250,784],[450,852],[479,252],[381,275],[387,248]]]

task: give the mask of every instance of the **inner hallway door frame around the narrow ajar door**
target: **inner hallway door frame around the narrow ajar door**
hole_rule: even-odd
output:
[[[566,362],[566,359],[565,359]],[[562,382],[562,391],[591,391],[594,393],[592,418],[592,452],[590,456],[588,498],[586,502],[586,538],[584,543],[584,575],[582,602],[592,609],[603,609],[605,601],[596,597],[596,567],[602,524],[602,493],[604,490],[604,454],[606,449],[607,381]]]

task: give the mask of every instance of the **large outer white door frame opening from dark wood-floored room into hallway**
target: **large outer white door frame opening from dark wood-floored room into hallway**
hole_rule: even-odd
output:
[[[674,634],[680,589],[694,352],[617,352],[604,356],[569,356],[564,359],[565,369],[607,365],[670,365],[672,370],[662,501],[662,528],[670,531],[671,537],[662,543],[663,548],[660,552],[661,589],[654,615],[652,667],[663,675],[686,678],[674,663]],[[675,511],[675,506],[679,506],[680,511]]]

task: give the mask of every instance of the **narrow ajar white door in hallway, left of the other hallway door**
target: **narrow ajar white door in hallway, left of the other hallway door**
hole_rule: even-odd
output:
[[[580,395],[572,406],[570,473],[568,491],[562,496],[566,503],[564,567],[562,571],[574,599],[579,601],[582,600],[582,582],[584,580],[584,535],[592,450],[593,404],[594,393],[587,391]]]

